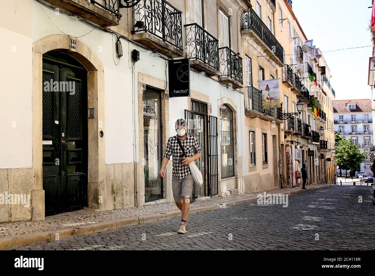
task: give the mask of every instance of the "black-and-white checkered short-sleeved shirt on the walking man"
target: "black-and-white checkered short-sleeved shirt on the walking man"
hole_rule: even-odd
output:
[[[180,146],[178,145],[177,139],[180,139],[176,136],[172,136],[168,139],[168,144],[166,145],[166,151],[163,157],[166,157],[170,159],[172,155],[173,160],[173,170],[172,170],[172,176],[174,178],[185,178],[190,174],[189,165],[183,165],[180,162],[180,157],[182,154],[182,151],[180,149]],[[201,147],[199,146],[198,139],[192,134],[187,134],[185,139],[180,140],[181,146],[185,150],[185,157],[193,157],[198,152],[201,152]]]

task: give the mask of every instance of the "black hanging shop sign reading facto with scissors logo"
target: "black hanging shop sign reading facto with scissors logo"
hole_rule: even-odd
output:
[[[168,60],[169,97],[190,96],[190,59]]]

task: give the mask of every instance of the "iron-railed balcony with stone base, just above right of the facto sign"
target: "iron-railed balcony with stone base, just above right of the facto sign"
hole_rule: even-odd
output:
[[[219,75],[219,41],[196,23],[185,25],[186,57],[190,67],[208,76]]]

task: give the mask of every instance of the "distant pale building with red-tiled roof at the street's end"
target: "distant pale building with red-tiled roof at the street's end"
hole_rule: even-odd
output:
[[[374,153],[374,136],[372,124],[371,100],[336,100],[333,101],[335,133],[345,139],[351,139],[367,157],[361,163],[360,170],[370,173]]]

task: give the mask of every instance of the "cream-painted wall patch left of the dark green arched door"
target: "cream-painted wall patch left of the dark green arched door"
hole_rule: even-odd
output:
[[[31,167],[32,41],[2,27],[0,36],[0,168]]]

